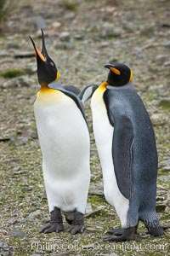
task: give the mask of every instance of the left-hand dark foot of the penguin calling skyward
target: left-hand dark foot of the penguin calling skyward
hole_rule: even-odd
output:
[[[60,209],[54,207],[54,211],[50,212],[50,224],[40,230],[40,233],[48,234],[52,232],[59,233],[60,231],[64,230],[64,225],[62,221],[62,216]]]

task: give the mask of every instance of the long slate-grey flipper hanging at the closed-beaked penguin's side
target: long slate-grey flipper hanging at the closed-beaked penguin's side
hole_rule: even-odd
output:
[[[133,125],[121,116],[114,129],[112,155],[119,189],[127,199],[132,195]]]

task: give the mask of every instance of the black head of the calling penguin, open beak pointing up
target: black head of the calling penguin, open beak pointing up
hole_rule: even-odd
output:
[[[39,84],[51,84],[59,80],[59,72],[54,61],[48,56],[45,46],[44,34],[42,31],[42,51],[37,48],[33,39],[30,37],[31,43],[36,51],[37,56],[37,79]]]

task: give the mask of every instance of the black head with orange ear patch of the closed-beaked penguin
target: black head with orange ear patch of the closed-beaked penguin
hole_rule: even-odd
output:
[[[106,64],[110,72],[107,77],[107,83],[113,86],[122,86],[128,84],[133,79],[133,72],[129,67],[122,63]]]

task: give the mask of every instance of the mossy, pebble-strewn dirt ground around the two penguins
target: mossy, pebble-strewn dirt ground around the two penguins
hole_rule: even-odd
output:
[[[105,81],[105,63],[120,61],[133,70],[133,84],[150,113],[159,154],[157,211],[169,225],[170,198],[170,3],[167,0],[37,0],[20,1],[0,34],[0,182],[1,255],[168,255],[170,231],[159,238],[145,235],[139,224],[136,241],[104,242],[109,228],[119,227],[113,207],[103,195],[102,173],[94,144],[89,102],[86,115],[91,136],[91,184],[86,230],[38,233],[49,220],[42,179],[33,102],[37,63],[28,38],[41,48],[43,27],[49,55],[62,84]]]

